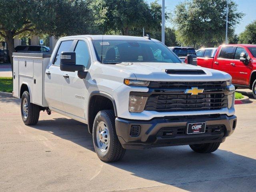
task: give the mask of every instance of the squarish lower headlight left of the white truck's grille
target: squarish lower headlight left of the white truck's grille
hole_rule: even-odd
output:
[[[144,111],[148,97],[134,96],[129,97],[129,111],[134,113],[140,113]]]

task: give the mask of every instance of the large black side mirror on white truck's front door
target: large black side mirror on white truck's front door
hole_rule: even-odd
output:
[[[84,66],[76,65],[76,52],[61,52],[60,70],[68,72],[84,71]]]

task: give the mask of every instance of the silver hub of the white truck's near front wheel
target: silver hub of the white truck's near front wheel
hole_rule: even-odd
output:
[[[98,123],[97,131],[96,131],[96,139],[98,147],[102,152],[106,152],[108,150],[108,140],[109,140],[109,132],[106,124],[101,121]]]

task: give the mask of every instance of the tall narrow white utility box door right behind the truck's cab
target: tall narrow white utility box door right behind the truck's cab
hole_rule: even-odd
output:
[[[43,60],[34,59],[33,103],[43,105]]]

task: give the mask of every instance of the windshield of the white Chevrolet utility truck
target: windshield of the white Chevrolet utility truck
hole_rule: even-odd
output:
[[[99,62],[116,64],[121,62],[164,62],[181,61],[160,42],[136,40],[92,40]],[[102,61],[101,61],[102,59]]]

